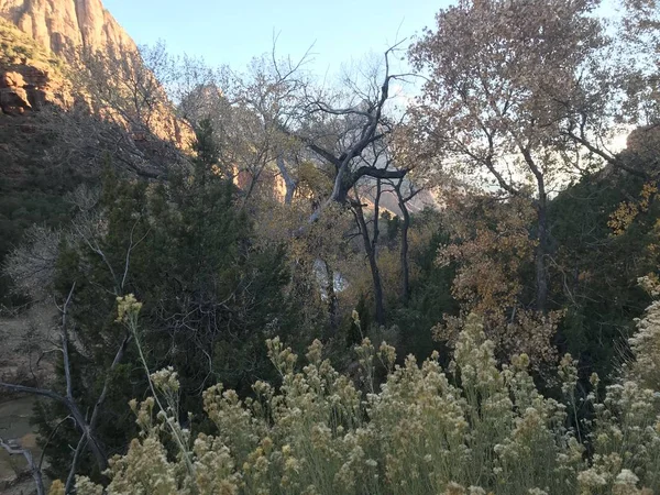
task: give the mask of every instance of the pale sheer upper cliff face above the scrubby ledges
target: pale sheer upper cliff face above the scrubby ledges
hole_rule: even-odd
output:
[[[81,47],[113,54],[136,50],[100,0],[0,0],[0,18],[69,59]]]

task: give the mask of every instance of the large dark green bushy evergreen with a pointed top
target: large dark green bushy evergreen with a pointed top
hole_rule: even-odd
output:
[[[222,382],[241,394],[254,380],[273,377],[264,340],[290,329],[295,308],[286,288],[284,246],[257,249],[245,213],[234,207],[238,191],[218,175],[212,129],[199,127],[193,174],[168,184],[128,182],[108,173],[95,211],[74,221],[62,246],[56,288],[75,283],[70,319],[75,395],[90,410],[127,329],[116,321],[117,297],[134,294],[143,302],[141,334],[132,336],[122,364],[111,377],[97,435],[108,454],[123,452],[135,433],[129,400],[147,389],[134,339],[151,371],[174,366],[182,380],[183,410],[201,411],[201,392]],[[64,387],[58,370],[57,387]],[[66,477],[79,433],[64,421],[64,407],[40,403],[35,420],[53,475]],[[70,421],[69,421],[70,422]],[[194,428],[198,427],[193,425]],[[45,441],[44,441],[45,444]],[[95,472],[85,454],[79,473]]]

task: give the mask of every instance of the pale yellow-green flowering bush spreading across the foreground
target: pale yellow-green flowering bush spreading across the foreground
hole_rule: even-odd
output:
[[[590,394],[594,418],[579,428],[566,426],[576,384],[571,356],[558,370],[566,397],[562,404],[538,392],[526,354],[497,365],[494,343],[474,315],[458,337],[448,370],[437,353],[421,365],[413,356],[395,365],[392,346],[376,349],[365,339],[356,353],[366,393],[322,358],[319,341],[299,369],[290,349],[279,339],[268,340],[282,386],[256,382],[254,397],[245,400],[222,385],[206,391],[212,436],[193,438],[180,426],[176,372],[162,370],[151,375],[156,397],[131,403],[142,433],[125,455],[112,459],[105,491],[659,493],[660,384],[657,354],[647,354],[660,343],[659,316],[656,304],[630,342],[637,361],[624,367],[602,400]],[[136,318],[124,320],[136,324]],[[388,375],[376,391],[374,373],[381,365]],[[594,375],[592,383],[597,381]],[[593,453],[587,455],[587,448]],[[52,493],[63,493],[62,484],[54,484]],[[77,493],[101,494],[103,488],[78,477]]]

